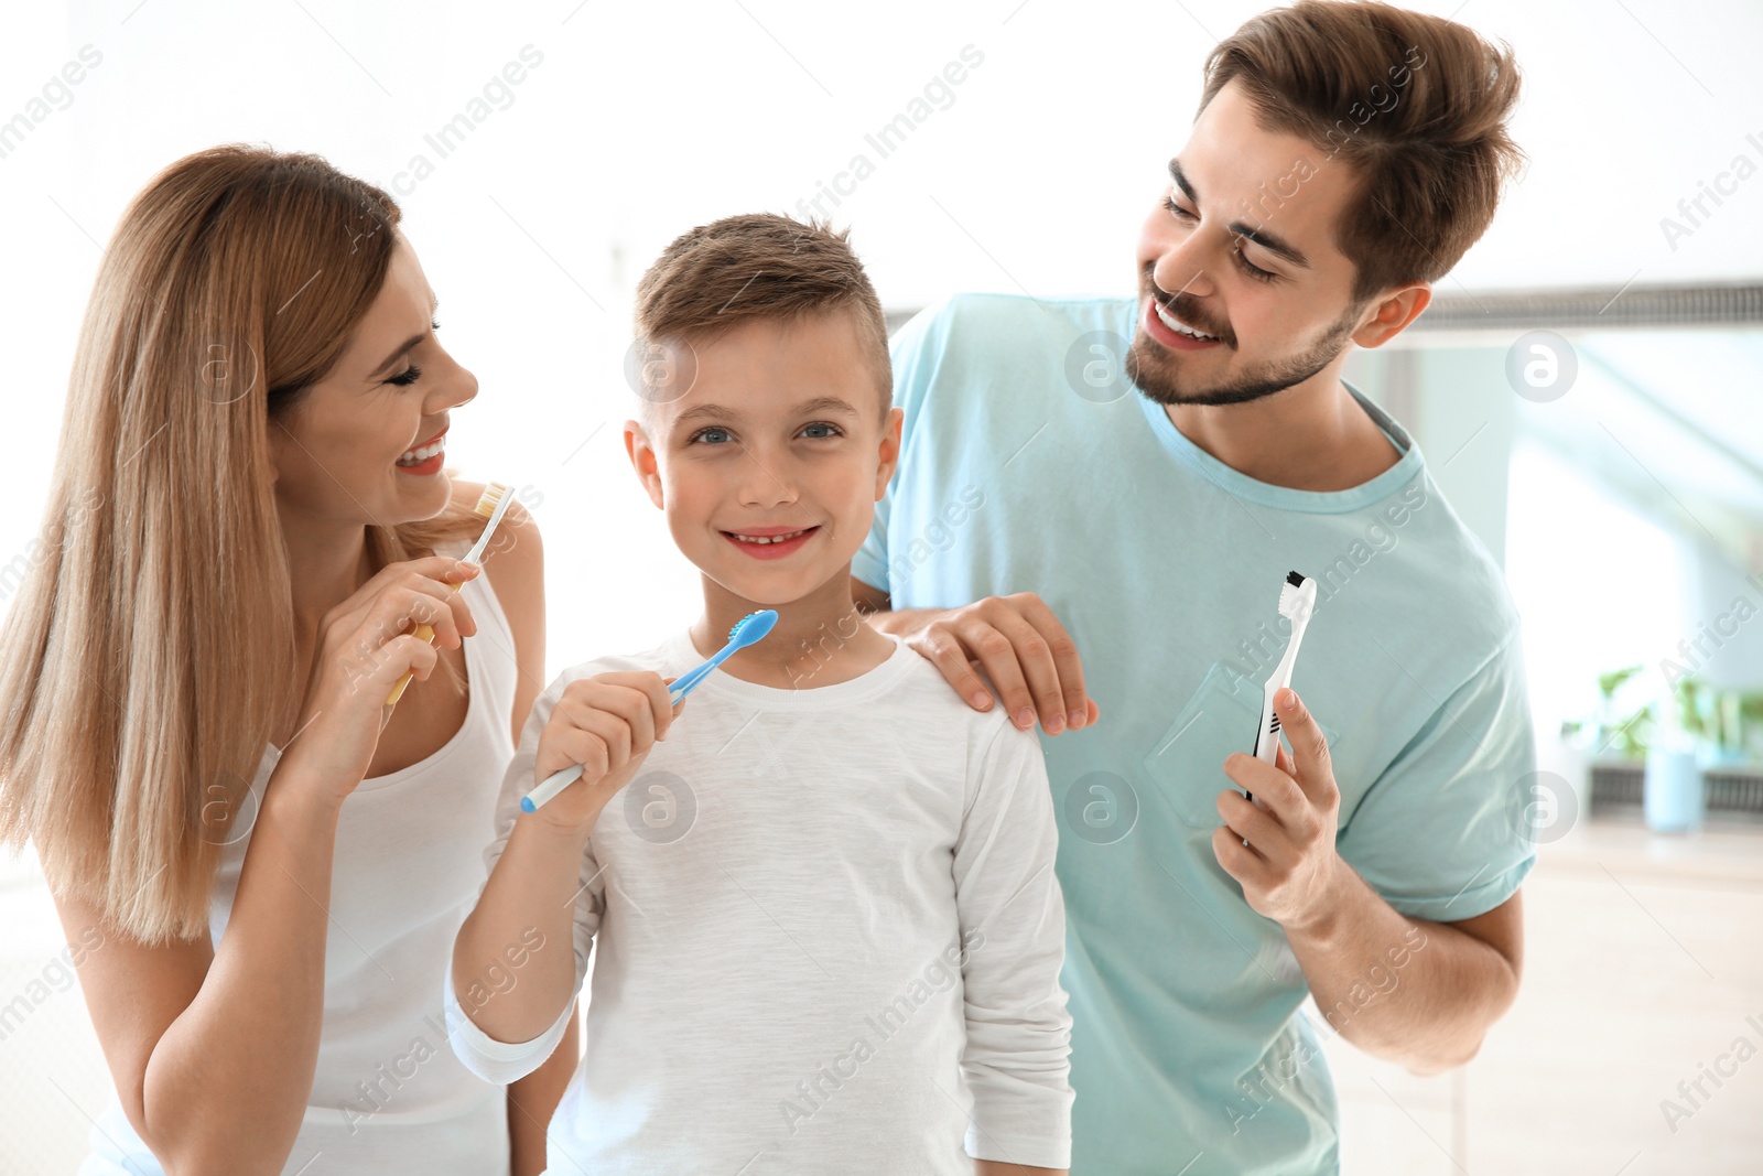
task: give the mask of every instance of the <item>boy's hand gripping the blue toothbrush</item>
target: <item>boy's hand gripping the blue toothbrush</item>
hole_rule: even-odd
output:
[[[582,765],[582,779],[532,816],[587,834],[606,802],[636,776],[656,741],[666,739],[686,705],[684,698],[672,705],[666,693],[672,681],[649,670],[626,670],[569,682],[539,733],[532,783],[571,763]]]

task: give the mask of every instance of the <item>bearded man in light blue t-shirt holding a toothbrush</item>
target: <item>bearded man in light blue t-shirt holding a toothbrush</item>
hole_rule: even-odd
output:
[[[904,448],[853,589],[1047,735],[1072,1176],[1338,1171],[1306,993],[1416,1072],[1469,1061],[1516,994],[1518,617],[1340,379],[1486,229],[1516,95],[1439,18],[1262,14],[1208,60],[1137,300],[959,296],[894,340]],[[1315,714],[1280,696],[1273,767],[1246,753],[1291,569],[1319,582]]]

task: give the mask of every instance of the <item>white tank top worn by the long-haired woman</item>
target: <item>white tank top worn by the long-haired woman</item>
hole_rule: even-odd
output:
[[[464,552],[458,543],[441,554]],[[427,760],[363,779],[337,823],[324,1028],[287,1176],[508,1172],[504,1088],[460,1065],[441,1017],[453,936],[483,887],[483,848],[495,839],[495,797],[515,751],[513,631],[485,575],[460,591],[478,621],[465,638],[464,725]],[[413,684],[423,688],[448,689],[441,677]],[[279,760],[270,746],[224,850],[210,915],[215,945]],[[162,1176],[115,1098],[90,1143],[81,1176]]]

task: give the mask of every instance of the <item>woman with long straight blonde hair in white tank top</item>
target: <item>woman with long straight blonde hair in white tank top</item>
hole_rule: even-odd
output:
[[[439,446],[478,381],[398,215],[222,146],[99,270],[0,631],[0,832],[86,945],[118,1093],[83,1172],[543,1167],[573,1044],[504,1097],[439,1016],[545,681],[541,550],[513,506],[487,575],[457,559],[481,487]]]

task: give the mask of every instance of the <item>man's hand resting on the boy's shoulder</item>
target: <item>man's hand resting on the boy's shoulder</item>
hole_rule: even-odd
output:
[[[887,592],[853,578],[852,599],[876,629],[904,638],[931,661],[975,711],[989,711],[996,691],[1012,723],[1028,730],[1038,718],[1049,735],[1090,726],[1100,716],[1084,693],[1077,644],[1035,592],[987,596],[959,608],[894,610]]]

